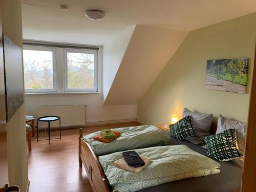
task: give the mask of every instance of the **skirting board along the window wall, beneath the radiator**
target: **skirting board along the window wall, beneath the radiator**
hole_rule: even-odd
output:
[[[61,129],[73,129],[74,127],[87,127],[87,126],[97,126],[97,125],[104,125],[104,124],[127,123],[127,122],[137,122],[137,119],[119,119],[119,120],[107,120],[107,121],[93,121],[93,122],[87,122],[86,124],[83,124],[83,125],[65,126],[65,127],[61,127]],[[45,129],[48,129],[48,127],[39,127],[39,131],[45,130]],[[58,130],[58,127],[51,127],[51,130]]]

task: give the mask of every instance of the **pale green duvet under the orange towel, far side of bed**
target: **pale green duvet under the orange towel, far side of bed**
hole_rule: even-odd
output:
[[[93,139],[100,132],[83,136],[83,139],[90,144],[97,156],[169,143],[169,137],[154,125],[130,126],[113,130],[120,132],[121,136],[110,143],[102,143]]]

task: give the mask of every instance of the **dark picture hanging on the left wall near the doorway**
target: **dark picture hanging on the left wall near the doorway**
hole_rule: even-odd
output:
[[[5,68],[5,97],[6,121],[14,115],[23,104],[23,71],[22,49],[3,34],[4,68]]]

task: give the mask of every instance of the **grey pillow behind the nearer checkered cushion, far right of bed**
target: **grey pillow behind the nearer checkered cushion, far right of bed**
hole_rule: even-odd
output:
[[[237,142],[239,150],[244,154],[245,152],[245,138],[246,138],[246,124],[241,123],[239,121],[226,119],[222,115],[219,115],[218,118],[218,127],[216,133],[221,133],[228,129],[235,129],[237,134]],[[243,167],[243,159],[234,159],[232,160],[232,163]]]

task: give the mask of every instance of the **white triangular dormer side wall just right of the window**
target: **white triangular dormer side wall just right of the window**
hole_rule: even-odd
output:
[[[103,47],[103,96],[108,95],[123,55],[129,45],[135,26],[129,27]]]

